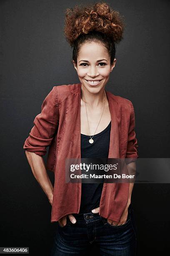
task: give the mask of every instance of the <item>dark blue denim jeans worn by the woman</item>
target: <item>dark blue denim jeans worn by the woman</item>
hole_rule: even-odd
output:
[[[98,213],[72,215],[77,220],[75,224],[71,223],[68,215],[64,227],[57,221],[51,256],[87,255],[94,244],[99,250],[98,255],[136,255],[137,229],[131,204],[127,221],[120,226],[111,225]]]

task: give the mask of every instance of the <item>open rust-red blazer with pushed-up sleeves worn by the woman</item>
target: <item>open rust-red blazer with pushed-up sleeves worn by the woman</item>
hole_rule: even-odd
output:
[[[133,104],[106,91],[111,113],[108,158],[137,159],[135,114]],[[46,168],[54,172],[51,222],[67,214],[79,213],[81,183],[65,182],[65,159],[81,158],[80,99],[81,83],[54,86],[42,103],[41,113],[23,148],[39,156],[46,154]],[[100,216],[120,221],[128,202],[129,183],[104,183],[100,199]]]

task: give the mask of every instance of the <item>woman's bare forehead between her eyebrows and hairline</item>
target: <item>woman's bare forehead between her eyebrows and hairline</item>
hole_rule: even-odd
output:
[[[94,58],[109,58],[109,54],[107,52],[106,47],[97,42],[86,42],[80,47],[78,59],[86,58],[94,59]]]

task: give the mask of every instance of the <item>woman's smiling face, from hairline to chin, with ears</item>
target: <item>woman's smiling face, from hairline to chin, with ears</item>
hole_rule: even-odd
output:
[[[92,93],[97,93],[105,87],[115,63],[116,59],[110,65],[110,56],[107,49],[96,42],[83,44],[77,56],[77,66],[73,61],[82,86]],[[94,80],[96,82],[92,82]]]

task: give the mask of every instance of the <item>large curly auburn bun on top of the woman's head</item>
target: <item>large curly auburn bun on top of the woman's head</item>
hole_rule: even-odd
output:
[[[80,34],[99,31],[112,38],[115,43],[122,40],[125,24],[123,16],[112,10],[107,3],[88,4],[67,8],[65,14],[65,37],[72,46]]]

